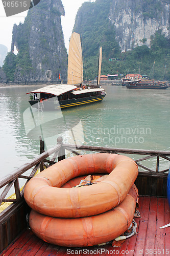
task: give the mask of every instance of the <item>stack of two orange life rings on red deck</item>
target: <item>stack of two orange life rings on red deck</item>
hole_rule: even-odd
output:
[[[86,180],[80,176],[92,174],[99,177],[75,186]],[[70,157],[48,167],[25,187],[32,231],[45,242],[69,247],[115,239],[133,221],[137,175],[132,159],[105,153]]]

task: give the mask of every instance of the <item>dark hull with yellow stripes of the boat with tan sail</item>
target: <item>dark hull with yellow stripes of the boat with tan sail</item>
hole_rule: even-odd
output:
[[[106,94],[89,96],[89,97],[78,98],[78,99],[74,98],[74,99],[67,99],[67,100],[59,100],[58,104],[55,103],[56,102],[55,100],[48,101],[48,99],[46,99],[46,100],[43,100],[43,104],[44,104],[43,110],[67,109],[74,106],[91,104],[91,103],[102,101],[105,96]],[[29,100],[29,103],[34,108],[38,109],[39,100]]]

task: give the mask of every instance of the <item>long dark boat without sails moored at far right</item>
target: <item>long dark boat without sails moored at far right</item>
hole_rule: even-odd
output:
[[[155,81],[155,80],[133,80],[125,82],[128,89],[161,89],[165,90],[169,86],[167,82]]]

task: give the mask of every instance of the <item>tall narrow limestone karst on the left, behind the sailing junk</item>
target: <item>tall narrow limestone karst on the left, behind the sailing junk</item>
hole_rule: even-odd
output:
[[[11,53],[16,47],[15,82],[55,82],[67,77],[67,52],[61,27],[61,0],[41,0],[23,24],[13,27]]]

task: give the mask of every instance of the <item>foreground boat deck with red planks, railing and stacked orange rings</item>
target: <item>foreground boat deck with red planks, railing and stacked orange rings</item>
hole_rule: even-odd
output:
[[[44,151],[44,143],[40,140],[41,154],[0,180],[0,188],[4,188],[0,197],[1,255],[168,255],[168,168],[159,168],[160,159],[167,161],[169,166],[170,152],[88,145],[77,145],[77,148],[63,144],[58,138],[55,147]],[[65,150],[77,156],[65,159]],[[82,155],[82,152],[89,154]],[[133,161],[119,154],[132,154],[137,158]],[[52,160],[48,160],[48,156],[52,156]],[[141,163],[154,157],[155,170]],[[137,165],[144,171],[139,169],[138,173]],[[45,166],[49,168],[43,170]],[[34,176],[38,169],[43,172]],[[26,173],[28,170],[30,175]],[[77,175],[81,177],[76,178]],[[20,189],[18,181],[23,179],[27,185]],[[80,180],[82,183],[74,187]],[[136,211],[138,196],[133,182],[139,193]],[[56,183],[58,187],[53,187]],[[16,197],[7,198],[12,185]],[[60,193],[62,185],[64,193]],[[26,221],[30,207],[23,198],[24,190],[26,201],[34,208],[30,214],[32,230]],[[57,200],[51,200],[55,197]],[[131,222],[132,230],[125,231]],[[116,242],[113,237],[120,235],[123,238],[116,240],[124,240]]]

